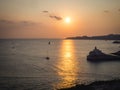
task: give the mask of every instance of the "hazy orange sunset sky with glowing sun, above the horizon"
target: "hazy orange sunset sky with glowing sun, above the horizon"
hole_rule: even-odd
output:
[[[0,0],[0,38],[120,34],[120,0]]]

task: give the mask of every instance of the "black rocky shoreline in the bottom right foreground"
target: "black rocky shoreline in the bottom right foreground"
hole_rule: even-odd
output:
[[[120,90],[120,79],[109,81],[95,81],[88,85],[81,84],[59,90]]]

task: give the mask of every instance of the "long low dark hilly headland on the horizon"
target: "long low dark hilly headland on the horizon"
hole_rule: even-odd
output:
[[[66,39],[84,39],[84,40],[120,40],[120,34],[109,34],[103,36],[76,36],[67,37]]]

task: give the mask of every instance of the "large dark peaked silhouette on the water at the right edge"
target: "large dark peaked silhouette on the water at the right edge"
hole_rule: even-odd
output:
[[[89,55],[87,56],[88,61],[111,61],[111,60],[120,60],[119,56],[105,54],[101,50],[94,48],[93,51],[90,51]]]

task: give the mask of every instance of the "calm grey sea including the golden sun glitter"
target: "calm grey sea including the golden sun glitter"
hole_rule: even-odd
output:
[[[95,46],[105,53],[120,50],[105,40],[0,40],[0,90],[54,90],[120,78],[119,61],[86,60]]]

